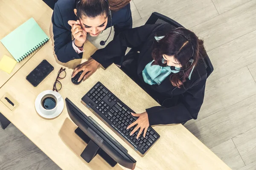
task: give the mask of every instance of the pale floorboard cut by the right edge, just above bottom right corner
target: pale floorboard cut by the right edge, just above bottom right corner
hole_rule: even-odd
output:
[[[256,116],[252,117],[252,120],[256,122]],[[254,127],[233,138],[233,142],[246,165],[256,161],[256,126]]]

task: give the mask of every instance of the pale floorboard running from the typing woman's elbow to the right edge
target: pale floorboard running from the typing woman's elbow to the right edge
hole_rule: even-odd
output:
[[[190,120],[186,126],[204,119],[237,102],[256,94],[256,84],[247,67],[206,84],[204,103],[198,119]]]

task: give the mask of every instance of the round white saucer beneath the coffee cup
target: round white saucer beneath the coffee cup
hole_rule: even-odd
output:
[[[46,94],[54,94],[55,96],[57,96],[57,98],[61,97],[61,94],[59,94],[56,91],[52,91],[52,90],[47,90],[47,91],[43,91],[41,94],[39,94],[37,96],[37,98],[35,99],[35,110],[37,111],[37,113],[46,118],[46,119],[52,119],[55,118],[57,116],[59,116],[61,114],[61,112],[64,109],[64,99],[61,97],[61,99],[59,99],[58,101],[58,105],[57,105],[57,109],[55,112],[46,112],[44,110],[44,108],[41,105],[41,99],[43,98],[43,96],[45,96]]]

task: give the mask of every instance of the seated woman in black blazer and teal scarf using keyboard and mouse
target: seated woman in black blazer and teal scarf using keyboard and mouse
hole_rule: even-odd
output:
[[[140,128],[138,136],[143,129],[145,136],[149,125],[197,119],[207,79],[207,71],[199,55],[206,53],[202,40],[192,31],[175,29],[170,24],[129,29],[91,56],[97,65],[85,62],[74,70],[73,75],[81,70],[93,73],[99,64],[107,68],[116,57],[124,55],[123,47],[136,48],[140,53],[125,56],[121,69],[161,105],[133,114],[139,118],[128,126],[138,124],[131,134]]]

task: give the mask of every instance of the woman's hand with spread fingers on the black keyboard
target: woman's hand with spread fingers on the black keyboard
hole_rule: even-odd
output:
[[[139,131],[136,138],[137,139],[139,138],[143,129],[144,129],[143,137],[145,138],[146,133],[147,133],[147,129],[149,127],[148,113],[147,112],[144,112],[144,113],[141,113],[141,114],[131,113],[131,115],[134,116],[134,117],[139,117],[139,118],[127,127],[127,129],[130,129],[134,125],[138,124],[136,127],[134,127],[134,130],[131,131],[130,136],[133,135],[140,128],[140,131]]]

